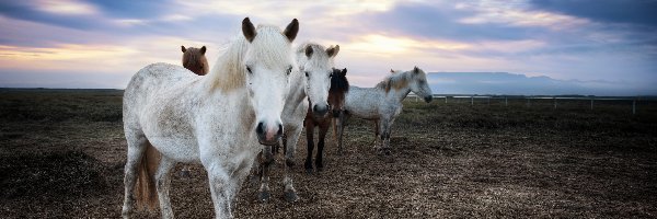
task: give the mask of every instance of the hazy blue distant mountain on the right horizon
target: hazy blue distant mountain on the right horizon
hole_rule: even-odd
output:
[[[430,72],[427,80],[438,94],[499,95],[646,95],[653,89],[632,88],[609,81],[557,80],[507,72]]]

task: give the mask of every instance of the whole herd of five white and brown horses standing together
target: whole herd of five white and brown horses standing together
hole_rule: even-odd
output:
[[[242,21],[209,70],[206,47],[182,46],[183,67],[152,64],[139,70],[124,93],[124,131],[128,145],[122,215],[134,205],[173,218],[169,198],[176,163],[200,163],[208,173],[217,218],[232,217],[244,180],[260,177],[257,197],[269,198],[269,169],[283,148],[285,199],[299,199],[288,169],[306,128],[308,173],[323,170],[324,138],[333,124],[342,153],[344,124],[350,116],[374,120],[378,152],[390,154],[390,132],[410,93],[431,101],[426,73],[415,67],[392,73],[374,88],[349,85],[347,69],[336,69],[339,46],[306,43],[292,48],[299,22],[284,31]],[[192,73],[192,72],[194,73]],[[313,132],[319,127],[314,166]],[[251,172],[254,170],[254,172]]]

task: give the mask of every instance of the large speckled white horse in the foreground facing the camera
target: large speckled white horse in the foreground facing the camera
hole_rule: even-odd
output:
[[[132,77],[124,94],[125,218],[134,192],[142,195],[138,204],[151,207],[158,197],[162,217],[173,218],[169,189],[176,162],[201,163],[216,217],[232,217],[231,204],[262,149],[258,142],[274,145],[283,135],[280,113],[296,67],[291,42],[298,31],[296,19],[281,32],[255,28],[246,18],[243,37],[229,45],[208,76],[154,64]],[[158,160],[152,172],[149,165]]]

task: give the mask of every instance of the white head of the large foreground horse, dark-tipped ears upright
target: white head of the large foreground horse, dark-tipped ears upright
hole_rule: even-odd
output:
[[[255,112],[255,132],[262,145],[275,145],[283,136],[283,112],[289,90],[289,77],[296,70],[291,43],[299,32],[299,22],[280,28],[253,26],[249,18],[242,21],[242,33],[249,49],[243,57],[246,87]]]

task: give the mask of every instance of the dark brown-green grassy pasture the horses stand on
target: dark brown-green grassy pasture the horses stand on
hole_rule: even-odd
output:
[[[126,140],[117,90],[0,89],[0,216],[120,216]],[[372,149],[372,123],[353,117],[324,171],[308,175],[304,134],[292,169],[300,200],[283,197],[278,155],[272,199],[247,180],[238,218],[654,218],[657,104],[551,100],[407,99],[392,127],[392,155]],[[214,215],[207,174],[172,180],[178,218]],[[140,218],[159,218],[138,211]]]

